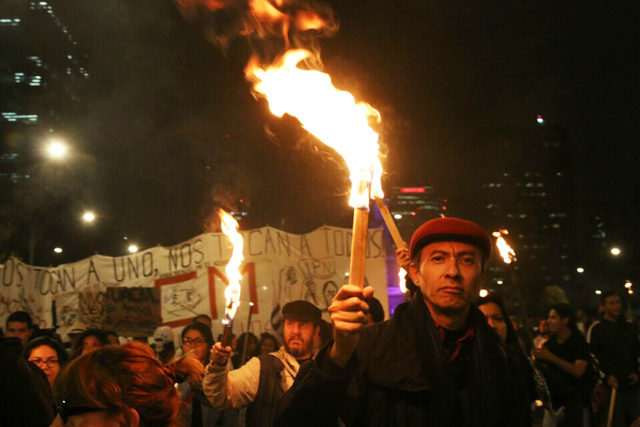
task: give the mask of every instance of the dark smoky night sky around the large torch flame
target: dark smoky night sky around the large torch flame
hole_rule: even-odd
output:
[[[615,212],[621,244],[640,244],[637,2],[331,4],[340,30],[321,40],[325,71],[380,110],[383,185],[432,185],[468,210],[494,132],[541,114],[569,134],[581,209]],[[87,114],[68,136],[100,215],[67,262],[121,255],[123,236],[189,239],[212,194],[243,199],[245,228],[350,226],[347,172],[252,97],[245,40],[222,52],[168,0],[57,13],[89,55]]]

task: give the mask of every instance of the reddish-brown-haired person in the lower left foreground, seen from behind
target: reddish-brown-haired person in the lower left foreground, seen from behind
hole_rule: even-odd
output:
[[[52,426],[178,425],[176,382],[198,381],[203,368],[192,358],[163,366],[149,345],[106,346],[78,357],[54,386],[59,412]]]

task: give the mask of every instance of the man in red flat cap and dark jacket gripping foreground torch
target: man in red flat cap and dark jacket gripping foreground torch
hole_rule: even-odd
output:
[[[391,319],[365,327],[373,289],[344,285],[329,307],[334,341],[303,367],[276,425],[530,425],[529,365],[472,300],[491,255],[478,225],[437,218],[416,230],[418,289]]]

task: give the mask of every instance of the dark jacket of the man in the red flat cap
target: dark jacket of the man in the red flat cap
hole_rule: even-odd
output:
[[[338,417],[348,426],[530,425],[526,359],[474,306],[467,324],[474,335],[456,374],[418,290],[389,321],[366,329],[346,369],[328,359],[331,344],[304,366],[276,425],[331,426]]]

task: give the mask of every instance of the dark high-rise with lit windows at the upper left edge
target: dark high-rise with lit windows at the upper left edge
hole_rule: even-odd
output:
[[[56,1],[0,3],[0,256],[33,261],[34,224],[52,218],[57,197],[49,155],[85,111],[87,55],[56,14]],[[56,151],[57,150],[57,151]],[[60,185],[58,188],[62,188]],[[57,210],[57,209],[56,209]],[[11,253],[8,253],[11,252]]]

